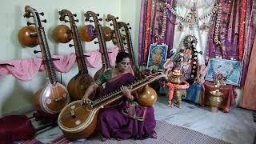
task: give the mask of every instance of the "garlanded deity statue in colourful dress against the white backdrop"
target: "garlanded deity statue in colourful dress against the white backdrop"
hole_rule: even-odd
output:
[[[186,89],[185,99],[194,103],[199,103],[207,70],[205,65],[198,65],[198,54],[202,54],[202,52],[196,50],[197,43],[198,40],[194,35],[187,35],[183,39],[182,49],[170,60],[171,62],[168,61],[164,65],[166,66],[165,70],[170,71],[171,67],[171,69],[181,71],[182,80],[190,84],[190,87]],[[168,64],[170,67],[168,67]],[[166,74],[168,74],[168,71]]]

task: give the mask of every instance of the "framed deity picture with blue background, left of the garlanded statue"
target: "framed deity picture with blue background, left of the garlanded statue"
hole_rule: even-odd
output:
[[[154,66],[158,70],[163,70],[163,64],[166,62],[167,45],[151,44],[147,58],[147,68]]]

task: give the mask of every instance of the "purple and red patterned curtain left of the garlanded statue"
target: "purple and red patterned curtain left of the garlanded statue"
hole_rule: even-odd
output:
[[[142,0],[139,36],[138,36],[138,64],[145,65],[150,44],[157,42],[157,35],[162,31],[162,17],[164,3],[175,6],[174,0]],[[173,47],[175,17],[171,14],[167,18],[164,43],[168,45],[168,51]],[[159,43],[161,44],[161,43]],[[167,58],[170,54],[167,54]]]

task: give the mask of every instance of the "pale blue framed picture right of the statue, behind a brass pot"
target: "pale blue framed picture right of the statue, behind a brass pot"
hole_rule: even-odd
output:
[[[226,84],[239,86],[241,73],[242,62],[210,58],[208,62],[208,70],[206,72],[206,80],[214,81],[214,75],[222,74]]]

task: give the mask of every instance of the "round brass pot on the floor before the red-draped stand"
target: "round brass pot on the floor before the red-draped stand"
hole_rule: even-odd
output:
[[[223,101],[222,95],[223,94],[218,90],[210,91],[209,105],[214,107],[220,106]]]

